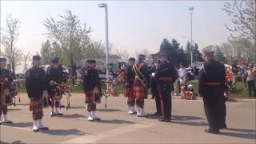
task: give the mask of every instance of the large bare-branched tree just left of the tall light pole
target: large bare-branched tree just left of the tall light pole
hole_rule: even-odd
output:
[[[87,28],[86,22],[81,26],[78,16],[72,14],[71,10],[65,10],[65,15],[59,16],[60,20],[46,18],[47,35],[52,40],[58,42],[61,48],[69,56],[68,61],[73,69],[74,62],[85,57],[82,51],[90,46],[90,27]],[[71,70],[74,72],[74,70]],[[71,72],[72,76],[74,73]]]

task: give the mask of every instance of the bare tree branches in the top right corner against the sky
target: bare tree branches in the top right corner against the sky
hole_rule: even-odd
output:
[[[255,0],[226,2],[222,10],[226,11],[234,24],[234,27],[226,26],[227,30],[238,33],[239,38],[252,38],[256,41]]]

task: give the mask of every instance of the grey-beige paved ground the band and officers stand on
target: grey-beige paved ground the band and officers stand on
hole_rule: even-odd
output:
[[[48,131],[31,130],[28,99],[22,94],[18,106],[10,106],[12,125],[0,126],[1,142],[18,143],[255,143],[255,101],[227,102],[228,130],[221,134],[206,134],[207,127],[202,101],[182,101],[173,98],[172,122],[158,122],[157,118],[137,118],[127,114],[126,98],[105,98],[98,105],[101,122],[88,122],[84,96],[73,94],[71,109],[65,115],[51,118],[50,108],[44,109],[43,122]],[[146,100],[146,112],[154,113],[154,100]]]

